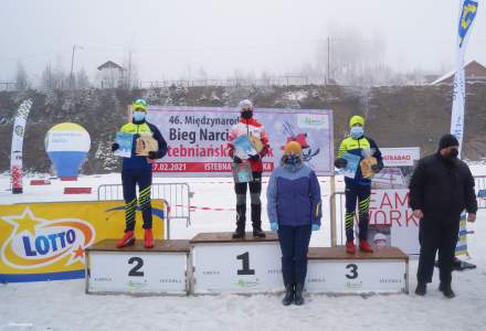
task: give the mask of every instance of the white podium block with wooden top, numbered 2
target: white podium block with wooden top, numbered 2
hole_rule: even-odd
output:
[[[189,241],[142,241],[117,248],[115,239],[86,249],[87,293],[182,295],[188,293]]]

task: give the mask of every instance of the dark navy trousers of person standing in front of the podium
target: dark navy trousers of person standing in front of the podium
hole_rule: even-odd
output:
[[[307,252],[310,241],[310,224],[278,226],[282,249],[282,274],[284,285],[304,285],[307,275]]]

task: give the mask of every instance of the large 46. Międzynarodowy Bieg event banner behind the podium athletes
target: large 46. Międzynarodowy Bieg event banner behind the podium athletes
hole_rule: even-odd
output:
[[[256,108],[254,116],[270,138],[264,172],[272,172],[279,164],[283,147],[295,140],[317,175],[332,174],[331,110]],[[231,177],[228,137],[239,118],[235,108],[150,106],[148,121],[159,128],[169,146],[167,156],[154,163],[154,172],[171,177]]]

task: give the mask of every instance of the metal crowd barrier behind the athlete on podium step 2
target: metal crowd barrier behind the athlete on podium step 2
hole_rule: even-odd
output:
[[[98,186],[98,200],[123,200],[122,184],[103,184]],[[154,183],[150,197],[162,199],[168,203],[167,238],[170,239],[170,221],[186,220],[186,226],[191,225],[191,197],[193,193],[188,183]]]

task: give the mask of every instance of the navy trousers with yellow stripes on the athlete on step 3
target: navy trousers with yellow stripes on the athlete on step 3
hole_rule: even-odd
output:
[[[346,183],[346,239],[355,239],[355,216],[356,216],[356,201],[358,200],[359,212],[359,238],[368,238],[368,222],[370,209],[370,185],[359,185],[355,183]]]

